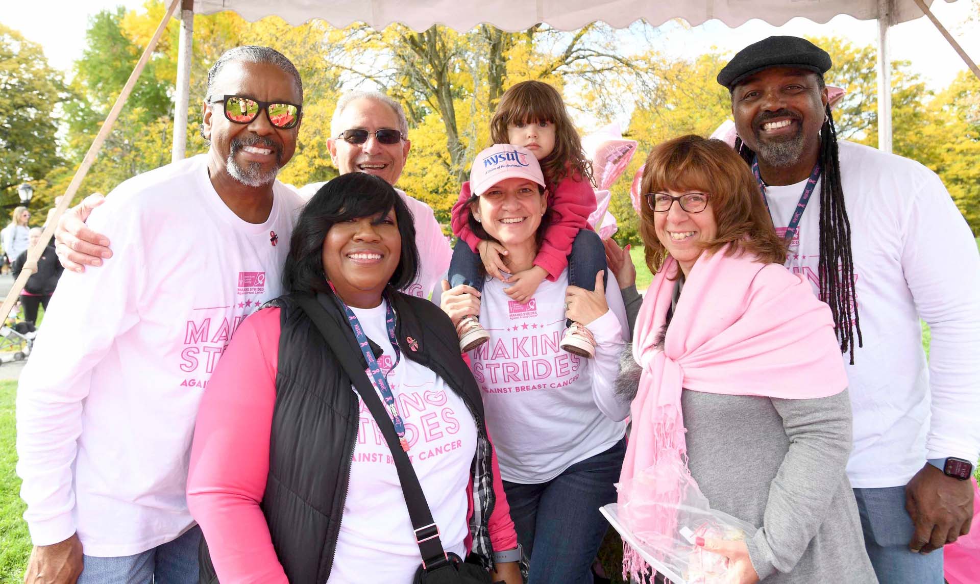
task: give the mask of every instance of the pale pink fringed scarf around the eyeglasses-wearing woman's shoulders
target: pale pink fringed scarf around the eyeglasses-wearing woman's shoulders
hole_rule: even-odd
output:
[[[647,291],[633,337],[633,358],[643,372],[630,408],[632,430],[620,483],[658,462],[682,469],[677,485],[690,476],[681,389],[810,399],[835,395],[848,385],[830,309],[813,296],[809,283],[782,266],[744,254],[728,257],[726,251],[702,254],[691,268],[663,350],[657,344],[676,284],[668,279],[678,270],[673,258],[666,259]],[[680,464],[672,464],[678,459]],[[671,493],[679,498],[677,486],[658,485],[657,491],[663,502]],[[628,490],[620,490],[620,510],[627,498]],[[675,525],[663,508],[654,509],[624,519],[656,529]],[[623,573],[635,577],[647,565],[626,548]]]

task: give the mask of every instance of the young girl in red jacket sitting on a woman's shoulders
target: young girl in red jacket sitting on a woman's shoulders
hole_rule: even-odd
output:
[[[508,296],[524,304],[545,278],[555,281],[567,267],[569,284],[594,291],[596,274],[606,269],[606,252],[587,222],[596,210],[592,168],[558,90],[542,81],[521,81],[508,89],[490,121],[490,137],[495,144],[522,146],[534,155],[548,183],[548,207],[554,219],[544,230],[534,266],[512,273],[507,250],[480,239],[467,225],[471,191],[469,183],[463,183],[453,206],[453,233],[459,241],[449,267],[450,285],[466,284],[482,291],[485,273],[511,284]],[[592,333],[579,322],[568,320],[566,324],[562,348],[591,358],[595,354]],[[475,316],[461,320],[457,332],[462,351],[490,338]]]

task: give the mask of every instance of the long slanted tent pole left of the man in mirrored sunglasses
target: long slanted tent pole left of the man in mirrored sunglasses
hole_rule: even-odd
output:
[[[113,109],[110,110],[106,121],[102,122],[102,127],[99,128],[99,133],[96,134],[95,139],[92,140],[92,145],[88,148],[88,152],[85,153],[85,158],[83,158],[81,160],[81,164],[78,165],[78,170],[74,171],[74,176],[71,184],[68,185],[68,190],[65,191],[65,195],[61,197],[57,207],[55,207],[54,214],[48,216],[48,221],[44,225],[44,231],[41,232],[41,238],[33,247],[27,250],[27,261],[24,264],[24,269],[21,270],[21,275],[17,276],[17,280],[14,282],[14,287],[7,293],[7,298],[4,299],[3,306],[0,307],[0,323],[6,322],[7,316],[10,315],[11,309],[14,308],[14,303],[16,303],[18,297],[21,296],[21,290],[24,290],[24,285],[27,283],[27,278],[37,271],[37,259],[41,257],[41,254],[47,247],[48,242],[51,241],[51,235],[55,231],[55,226],[58,225],[58,220],[65,215],[65,210],[72,204],[74,194],[78,192],[78,187],[81,186],[81,181],[85,179],[85,174],[88,173],[88,170],[91,169],[92,165],[95,163],[95,157],[99,155],[99,150],[102,149],[103,142],[105,142],[106,138],[109,137],[109,132],[112,131],[113,124],[115,124],[116,120],[120,117],[120,112],[123,111],[125,100],[129,97],[129,93],[132,92],[133,86],[136,85],[136,79],[139,78],[139,73],[143,73],[143,68],[146,67],[147,62],[150,61],[150,55],[152,55],[154,49],[157,48],[157,43],[160,41],[160,37],[163,36],[164,31],[167,30],[167,24],[171,22],[173,13],[176,11],[179,4],[180,0],[173,0],[171,3],[171,7],[167,10],[167,14],[164,15],[164,20],[162,20],[160,25],[157,26],[157,31],[153,33],[153,37],[146,45],[146,49],[143,51],[143,56],[139,58],[139,62],[136,63],[136,67],[132,70],[132,73],[129,73],[129,78],[126,80],[125,85],[123,85],[123,91],[120,92],[120,96],[116,98],[116,103],[113,104]]]

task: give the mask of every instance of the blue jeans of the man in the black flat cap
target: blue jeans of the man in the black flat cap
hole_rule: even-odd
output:
[[[914,554],[906,488],[855,489],[864,548],[880,584],[943,584],[943,550]]]

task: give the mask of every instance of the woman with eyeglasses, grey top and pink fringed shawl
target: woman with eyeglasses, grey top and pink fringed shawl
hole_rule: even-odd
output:
[[[632,399],[620,510],[650,503],[630,488],[640,475],[659,477],[667,503],[689,476],[712,509],[757,528],[692,544],[727,559],[725,582],[877,582],[845,474],[851,404],[830,309],[783,268],[752,172],[723,142],[689,135],[654,149],[641,184],[655,277],[617,383]],[[623,518],[662,529],[668,507]],[[649,574],[628,546],[624,561]]]

